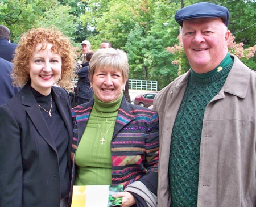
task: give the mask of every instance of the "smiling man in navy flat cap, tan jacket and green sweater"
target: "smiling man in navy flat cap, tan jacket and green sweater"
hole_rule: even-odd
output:
[[[256,73],[228,53],[226,7],[196,3],[175,19],[191,69],[154,100],[158,206],[256,206]]]

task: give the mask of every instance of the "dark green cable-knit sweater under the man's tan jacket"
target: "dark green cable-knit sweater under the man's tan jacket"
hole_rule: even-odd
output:
[[[169,165],[171,207],[197,206],[204,111],[224,85],[232,65],[233,60],[228,54],[216,69],[208,73],[191,71],[172,130]]]

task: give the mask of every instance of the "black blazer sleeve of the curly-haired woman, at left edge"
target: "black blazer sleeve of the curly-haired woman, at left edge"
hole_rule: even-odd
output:
[[[6,105],[0,106],[0,206],[22,206],[20,128]]]

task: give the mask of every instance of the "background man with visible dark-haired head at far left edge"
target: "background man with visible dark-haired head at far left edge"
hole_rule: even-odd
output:
[[[0,57],[11,62],[17,44],[10,43],[11,32],[4,26],[0,25]]]

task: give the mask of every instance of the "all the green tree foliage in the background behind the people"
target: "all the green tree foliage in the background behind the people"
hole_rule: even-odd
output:
[[[179,56],[168,52],[179,47],[179,24],[175,12],[200,0],[2,0],[0,24],[11,30],[11,41],[30,28],[54,25],[80,48],[89,40],[92,49],[100,48],[103,40],[112,42],[129,56],[129,78],[158,81],[159,90],[189,69],[181,49]],[[243,43],[250,54],[256,44],[254,0],[205,0],[228,7],[229,29],[236,45]],[[246,56],[247,56],[246,54]],[[179,57],[179,58],[177,58]],[[180,62],[179,65],[172,61]],[[256,69],[256,57],[242,61]]]

